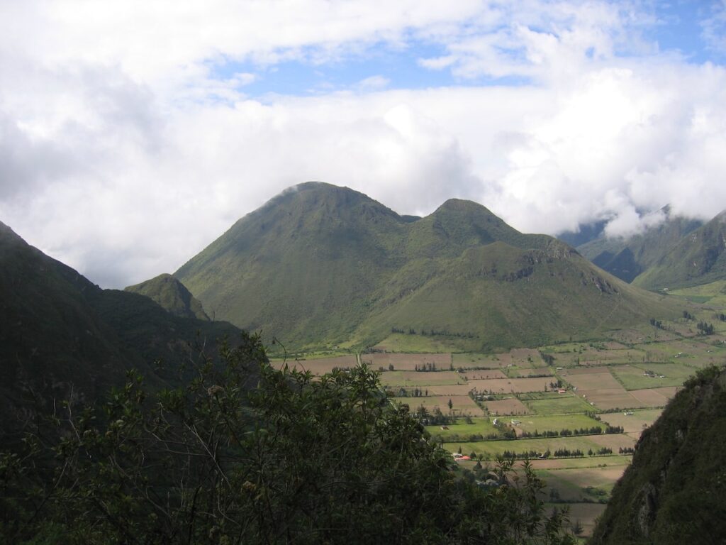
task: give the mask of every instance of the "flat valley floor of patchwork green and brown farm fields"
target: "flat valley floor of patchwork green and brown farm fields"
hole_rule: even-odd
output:
[[[679,320],[506,353],[374,352],[287,365],[324,374],[365,363],[461,471],[486,478],[497,459],[529,459],[546,483],[542,499],[567,506],[587,536],[643,429],[689,376],[726,362],[726,323],[711,336],[694,329]]]

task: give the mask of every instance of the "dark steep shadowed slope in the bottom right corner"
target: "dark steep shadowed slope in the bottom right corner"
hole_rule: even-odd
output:
[[[723,543],[725,467],[726,371],[709,368],[643,432],[592,545]]]

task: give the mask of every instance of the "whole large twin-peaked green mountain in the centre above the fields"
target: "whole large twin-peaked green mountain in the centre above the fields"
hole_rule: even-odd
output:
[[[317,182],[242,217],[174,276],[216,317],[295,350],[367,347],[392,333],[407,350],[432,339],[493,350],[675,315],[565,243],[519,233],[476,203],[401,217]]]

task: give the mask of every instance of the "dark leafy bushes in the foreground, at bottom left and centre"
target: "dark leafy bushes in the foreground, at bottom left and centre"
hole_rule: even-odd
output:
[[[2,454],[0,541],[572,543],[529,467],[461,479],[368,368],[278,371],[256,337],[221,355],[153,394],[131,373]]]

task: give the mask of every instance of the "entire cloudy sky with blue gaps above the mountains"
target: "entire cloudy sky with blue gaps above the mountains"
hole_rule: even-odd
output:
[[[310,179],[555,235],[726,209],[726,0],[0,3],[0,221],[105,287]]]

